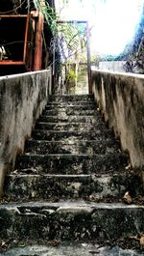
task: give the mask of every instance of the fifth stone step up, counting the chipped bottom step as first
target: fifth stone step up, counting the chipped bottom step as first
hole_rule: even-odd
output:
[[[96,129],[94,131],[69,131],[69,130],[45,130],[35,129],[32,133],[32,139],[67,141],[69,143],[75,140],[104,140],[110,139],[114,142],[112,132],[109,130]]]

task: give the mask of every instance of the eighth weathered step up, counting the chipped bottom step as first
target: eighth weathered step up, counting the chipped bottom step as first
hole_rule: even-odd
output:
[[[52,109],[52,110],[44,110],[43,114],[46,116],[56,116],[56,115],[68,115],[68,116],[93,116],[95,113],[97,113],[98,110],[75,110],[75,109]],[[99,112],[98,112],[99,114]]]

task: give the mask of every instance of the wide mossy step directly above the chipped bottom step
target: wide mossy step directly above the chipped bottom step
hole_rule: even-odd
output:
[[[5,183],[9,200],[49,201],[65,199],[123,199],[129,191],[135,197],[142,185],[137,174],[124,172],[108,175],[10,175]]]

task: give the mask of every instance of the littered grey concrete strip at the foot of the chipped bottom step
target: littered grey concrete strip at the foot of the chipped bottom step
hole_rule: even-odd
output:
[[[49,243],[47,245],[47,243]],[[9,243],[8,243],[9,244]],[[40,245],[41,244],[41,245]],[[131,245],[122,248],[118,245],[102,245],[98,242],[60,242],[16,246],[0,253],[0,256],[143,256],[143,252],[133,250]],[[130,249],[131,248],[131,249]]]

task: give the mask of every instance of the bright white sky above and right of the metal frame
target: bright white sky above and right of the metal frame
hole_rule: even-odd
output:
[[[88,20],[91,29],[91,50],[101,54],[119,54],[134,35],[142,14],[144,0],[55,0],[60,17],[67,20]]]

